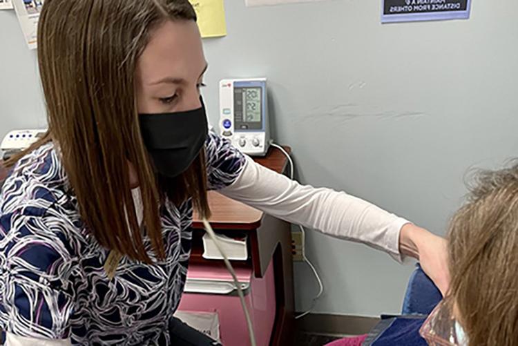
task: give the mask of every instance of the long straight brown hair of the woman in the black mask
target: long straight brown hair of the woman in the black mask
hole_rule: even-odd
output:
[[[200,214],[209,215],[204,151],[180,177],[160,178],[140,133],[135,67],[150,32],[166,20],[195,21],[196,15],[188,0],[46,0],[38,27],[49,131],[28,151],[55,142],[88,229],[102,246],[144,262],[151,258],[137,224],[128,162],[157,258],[165,256],[165,195],[174,203],[193,198]]]

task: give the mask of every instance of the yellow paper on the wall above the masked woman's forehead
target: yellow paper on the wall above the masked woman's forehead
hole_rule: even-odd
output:
[[[198,15],[202,37],[227,36],[224,0],[189,0]]]

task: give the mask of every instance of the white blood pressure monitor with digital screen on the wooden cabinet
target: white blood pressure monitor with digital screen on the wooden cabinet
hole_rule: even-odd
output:
[[[265,156],[270,144],[266,79],[220,82],[220,135],[243,153]]]

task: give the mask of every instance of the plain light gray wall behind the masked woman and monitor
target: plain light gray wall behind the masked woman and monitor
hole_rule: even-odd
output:
[[[382,26],[378,0],[245,8],[227,0],[229,36],[205,42],[204,95],[218,122],[218,80],[269,78],[274,135],[300,181],[366,198],[442,234],[470,167],[518,152],[518,3],[474,1],[469,21]],[[0,12],[0,136],[41,126],[35,53]],[[316,311],[397,312],[411,265],[310,232],[325,294]],[[296,265],[297,307],[316,292]]]

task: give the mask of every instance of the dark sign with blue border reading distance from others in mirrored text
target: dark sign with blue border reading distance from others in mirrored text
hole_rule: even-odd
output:
[[[382,0],[381,22],[469,19],[471,0]]]

